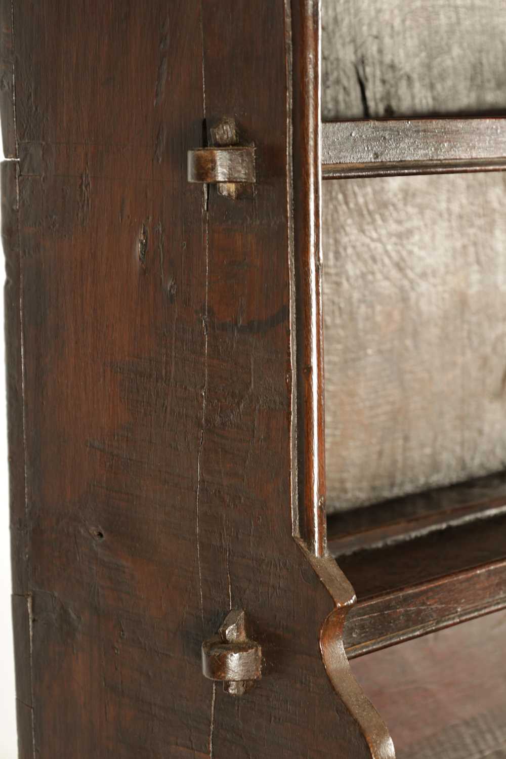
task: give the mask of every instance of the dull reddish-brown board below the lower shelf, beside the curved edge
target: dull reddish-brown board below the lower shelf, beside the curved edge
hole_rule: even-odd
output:
[[[503,759],[506,612],[354,660],[400,759]]]

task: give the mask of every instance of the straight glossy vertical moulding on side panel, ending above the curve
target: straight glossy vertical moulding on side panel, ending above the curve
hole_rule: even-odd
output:
[[[300,7],[300,10],[299,10]],[[298,531],[324,556],[325,414],[323,386],[319,0],[294,9],[294,268],[297,338]]]

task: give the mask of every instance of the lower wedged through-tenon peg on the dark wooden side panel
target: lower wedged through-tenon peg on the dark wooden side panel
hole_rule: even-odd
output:
[[[244,611],[228,613],[218,635],[202,644],[202,671],[210,680],[221,680],[223,689],[242,696],[262,677],[262,648],[246,635]]]

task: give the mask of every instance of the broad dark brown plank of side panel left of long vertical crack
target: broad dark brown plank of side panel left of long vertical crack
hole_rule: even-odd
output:
[[[202,133],[199,16],[17,2],[14,29],[26,433],[11,457],[26,455],[28,542],[13,559],[33,720],[20,734],[30,756],[205,754],[187,550],[199,436],[178,411],[198,418],[203,383],[202,203],[183,193]]]

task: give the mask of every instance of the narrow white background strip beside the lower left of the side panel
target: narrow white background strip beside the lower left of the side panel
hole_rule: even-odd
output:
[[[4,158],[0,147],[0,157]],[[1,247],[1,244],[0,244]],[[2,272],[5,279],[4,257]],[[0,288],[0,759],[16,759],[16,707],[14,694],[14,654],[11,625],[11,546],[9,537],[9,490],[7,468],[7,424],[5,405],[4,288]]]

